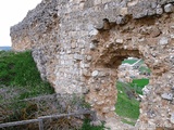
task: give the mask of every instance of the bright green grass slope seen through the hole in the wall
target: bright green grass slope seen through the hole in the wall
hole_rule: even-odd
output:
[[[148,83],[149,79],[134,79],[130,83],[116,82],[119,93],[115,112],[122,118],[123,122],[135,125],[139,116],[139,102],[133,93],[133,95],[128,95],[128,93],[135,91],[137,94],[142,94],[142,88]]]

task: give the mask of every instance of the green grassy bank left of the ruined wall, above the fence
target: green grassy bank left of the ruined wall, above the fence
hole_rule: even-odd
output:
[[[0,51],[0,88],[2,89],[2,87],[9,92],[14,90],[16,94],[12,99],[15,100],[54,92],[48,82],[41,80],[29,51],[18,53]]]

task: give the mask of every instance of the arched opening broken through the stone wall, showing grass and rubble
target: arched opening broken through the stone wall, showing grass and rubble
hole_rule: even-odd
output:
[[[135,125],[139,117],[139,104],[149,84],[150,69],[142,58],[128,57],[117,68],[117,101],[115,112],[122,121]]]

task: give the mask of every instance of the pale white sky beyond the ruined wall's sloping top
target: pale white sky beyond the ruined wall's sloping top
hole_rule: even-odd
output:
[[[41,0],[1,0],[0,47],[11,46],[10,27],[21,22]]]

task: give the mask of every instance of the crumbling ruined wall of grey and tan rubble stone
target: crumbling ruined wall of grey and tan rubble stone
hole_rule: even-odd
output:
[[[57,92],[86,95],[98,117],[114,115],[117,66],[151,69],[137,127],[174,128],[174,0],[42,0],[11,28],[13,50],[33,50]]]

